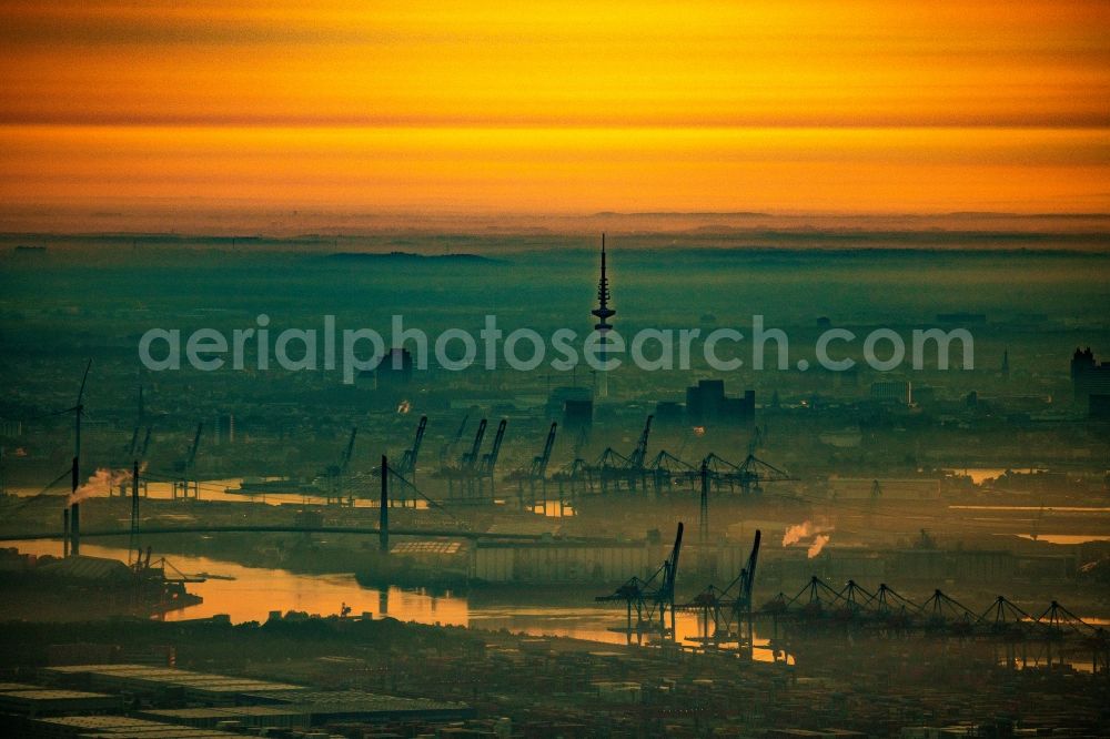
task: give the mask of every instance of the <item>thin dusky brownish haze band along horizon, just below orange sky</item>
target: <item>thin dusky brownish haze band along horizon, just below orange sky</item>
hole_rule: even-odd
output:
[[[601,233],[675,245],[866,249],[1110,249],[1110,213],[790,213],[653,211],[583,213],[453,213],[446,210],[337,211],[119,203],[0,206],[6,240],[80,237],[356,240],[404,234],[421,237],[544,236],[584,239]],[[828,241],[823,243],[823,235]],[[632,240],[632,241],[629,241]],[[714,241],[719,243],[714,244]],[[32,244],[28,244],[32,245]]]

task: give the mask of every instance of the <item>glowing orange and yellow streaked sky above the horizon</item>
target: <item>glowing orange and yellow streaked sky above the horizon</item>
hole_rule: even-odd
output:
[[[7,2],[0,196],[1110,211],[1110,3]]]

